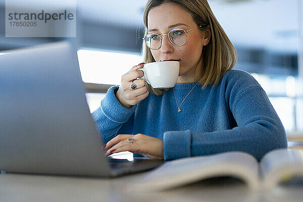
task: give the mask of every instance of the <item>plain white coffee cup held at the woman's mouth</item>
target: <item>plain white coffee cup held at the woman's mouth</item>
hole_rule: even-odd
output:
[[[146,63],[142,70],[142,79],[153,88],[174,87],[179,76],[180,63],[178,61],[163,61]]]

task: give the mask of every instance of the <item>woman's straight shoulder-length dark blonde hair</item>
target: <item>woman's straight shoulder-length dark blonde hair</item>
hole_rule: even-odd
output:
[[[203,74],[197,81],[205,88],[207,85],[217,85],[220,78],[229,70],[231,70],[237,61],[237,54],[234,46],[229,40],[228,36],[224,32],[223,28],[214,16],[207,0],[149,0],[146,3],[143,22],[145,25],[145,34],[147,30],[147,15],[148,12],[165,3],[172,3],[181,6],[192,17],[197,26],[201,27],[200,30],[206,30],[210,26],[211,39],[210,42],[203,47],[200,60],[202,61],[201,68]],[[151,55],[150,49],[143,41],[142,55],[145,63],[156,62],[153,55]],[[156,95],[163,94],[169,88],[156,89],[146,83],[149,92]]]

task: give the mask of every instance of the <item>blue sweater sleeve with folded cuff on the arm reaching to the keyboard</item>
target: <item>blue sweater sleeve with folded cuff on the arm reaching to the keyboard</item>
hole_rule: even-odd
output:
[[[245,151],[260,161],[268,151],[287,147],[284,127],[262,87],[235,86],[228,95],[228,108],[237,126],[205,133],[165,132],[165,160],[234,150]]]

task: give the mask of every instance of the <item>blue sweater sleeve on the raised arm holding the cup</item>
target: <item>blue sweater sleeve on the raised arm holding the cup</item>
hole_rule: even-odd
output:
[[[123,107],[115,95],[118,86],[112,86],[101,100],[100,107],[92,112],[96,128],[104,143],[114,138],[117,133],[132,134],[132,117],[136,106]]]

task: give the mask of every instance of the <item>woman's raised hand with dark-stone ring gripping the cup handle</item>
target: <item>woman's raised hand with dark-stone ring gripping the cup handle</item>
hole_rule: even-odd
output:
[[[144,63],[132,67],[126,74],[121,77],[121,85],[116,92],[116,97],[122,106],[130,108],[132,105],[137,105],[148,95],[147,87],[143,79],[143,72],[137,70],[143,67]],[[135,89],[131,88],[132,82],[136,85]]]

